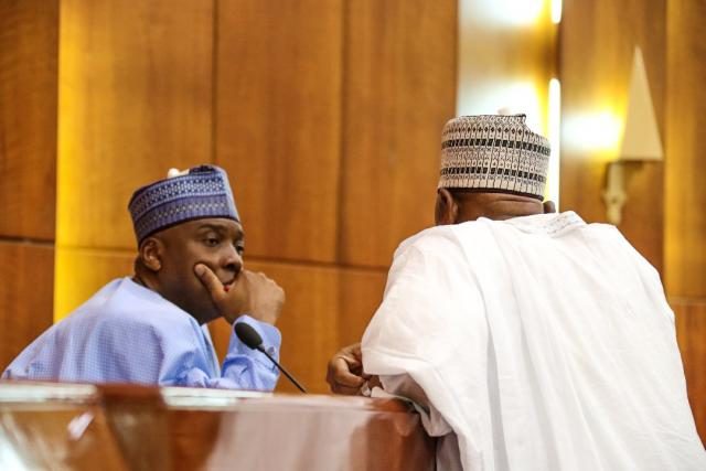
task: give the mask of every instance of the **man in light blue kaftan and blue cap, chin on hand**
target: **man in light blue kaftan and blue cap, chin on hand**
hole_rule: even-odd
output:
[[[244,232],[225,172],[171,171],[129,203],[135,276],[116,279],[30,344],[4,379],[270,390],[278,372],[232,333],[218,365],[206,322],[246,322],[279,356],[282,289],[243,268]]]

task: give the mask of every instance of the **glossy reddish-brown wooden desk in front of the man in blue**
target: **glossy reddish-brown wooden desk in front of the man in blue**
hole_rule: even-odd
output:
[[[431,470],[400,402],[0,382],[0,469]]]

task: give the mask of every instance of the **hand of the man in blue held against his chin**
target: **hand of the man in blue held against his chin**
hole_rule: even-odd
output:
[[[240,270],[232,285],[224,286],[203,264],[194,272],[206,287],[218,313],[229,323],[243,314],[275,325],[285,306],[285,290],[265,274]]]

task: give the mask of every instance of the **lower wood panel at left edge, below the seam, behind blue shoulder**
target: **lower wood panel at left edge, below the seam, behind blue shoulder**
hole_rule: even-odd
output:
[[[0,372],[52,324],[52,246],[0,242]]]

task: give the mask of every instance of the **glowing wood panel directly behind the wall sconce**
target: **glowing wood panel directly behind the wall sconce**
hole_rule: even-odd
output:
[[[666,0],[567,1],[560,35],[561,208],[588,222],[606,221],[601,199],[606,164],[614,151],[580,146],[603,136],[586,118],[613,113],[624,119],[633,51],[642,47],[655,116],[664,142]],[[602,131],[601,131],[602,132]],[[657,269],[663,266],[663,169],[648,163],[631,169],[620,231]]]

